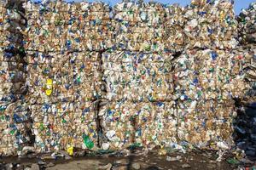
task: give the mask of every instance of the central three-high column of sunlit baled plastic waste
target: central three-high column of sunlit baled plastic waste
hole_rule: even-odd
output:
[[[160,3],[124,2],[113,8],[116,42],[102,54],[103,148],[176,142],[172,54],[162,38],[169,14]]]

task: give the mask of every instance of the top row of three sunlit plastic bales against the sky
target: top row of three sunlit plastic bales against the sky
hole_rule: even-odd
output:
[[[177,4],[122,2],[23,4],[27,50],[131,50],[180,52],[236,48],[238,23],[229,0]]]

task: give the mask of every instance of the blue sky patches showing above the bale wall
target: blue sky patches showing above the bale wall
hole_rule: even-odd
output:
[[[68,2],[71,1],[81,1],[81,0],[67,0]],[[89,2],[93,2],[94,0],[88,0]],[[121,0],[102,0],[105,3],[109,3],[110,5],[114,5],[115,3],[119,3]],[[179,3],[183,6],[186,6],[191,2],[191,0],[154,0],[155,2],[160,3]],[[148,0],[144,0],[144,2],[148,2]],[[240,14],[241,8],[247,8],[250,3],[256,2],[255,0],[235,0],[235,11],[236,14]]]

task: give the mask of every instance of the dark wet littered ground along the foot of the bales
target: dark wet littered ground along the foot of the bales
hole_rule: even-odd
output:
[[[29,156],[32,157],[32,156]],[[103,156],[79,156],[79,157],[54,157],[41,155],[36,158],[8,157],[2,158],[0,169],[27,169],[27,170],[95,170],[95,169],[256,169],[253,161],[239,162],[234,156],[223,156],[221,161],[216,161],[216,152],[193,151],[186,154],[168,153],[159,151],[136,151],[134,153],[111,153]]]

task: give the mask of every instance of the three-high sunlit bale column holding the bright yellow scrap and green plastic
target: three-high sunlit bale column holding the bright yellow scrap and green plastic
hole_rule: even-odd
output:
[[[109,7],[61,1],[25,6],[27,98],[36,150],[92,149],[102,96],[100,53],[112,39]]]

